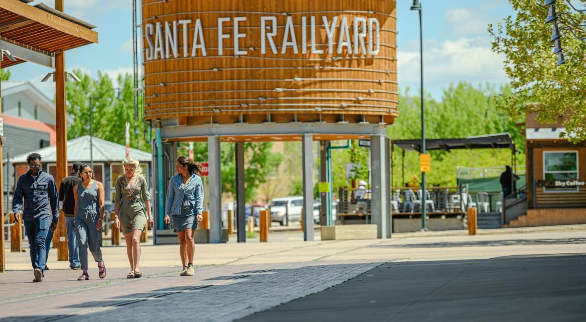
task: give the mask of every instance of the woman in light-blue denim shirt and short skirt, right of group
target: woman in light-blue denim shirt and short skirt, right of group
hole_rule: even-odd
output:
[[[177,174],[169,180],[165,202],[165,224],[171,222],[179,238],[179,255],[183,264],[180,276],[193,276],[197,223],[203,220],[203,189],[199,174],[202,168],[189,157],[179,156],[175,163]]]

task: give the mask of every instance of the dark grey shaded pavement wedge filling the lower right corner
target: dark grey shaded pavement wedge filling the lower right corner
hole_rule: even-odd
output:
[[[385,263],[240,321],[586,321],[586,254]]]

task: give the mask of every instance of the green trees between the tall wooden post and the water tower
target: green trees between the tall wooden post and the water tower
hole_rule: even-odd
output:
[[[68,139],[90,133],[90,101],[93,105],[93,135],[107,141],[125,144],[125,123],[130,122],[130,146],[145,151],[151,150],[148,141],[148,125],[134,120],[134,84],[132,76],[119,76],[117,86],[107,74],[98,72],[93,78],[81,70],[74,70],[80,78],[75,83],[68,81],[67,114],[74,118],[67,129]],[[145,137],[146,136],[146,137]]]

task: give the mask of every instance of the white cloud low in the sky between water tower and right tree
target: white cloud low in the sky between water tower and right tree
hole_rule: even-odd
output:
[[[428,90],[435,92],[458,81],[473,84],[508,81],[503,70],[504,57],[492,52],[486,37],[445,40],[433,47],[424,44],[424,49],[424,80]],[[419,52],[398,51],[397,58],[399,85],[419,87]]]

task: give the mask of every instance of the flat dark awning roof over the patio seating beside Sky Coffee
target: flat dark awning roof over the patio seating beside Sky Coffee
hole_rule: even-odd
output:
[[[393,144],[407,151],[421,151],[421,139],[395,140]],[[468,136],[462,139],[426,139],[425,150],[514,149],[509,133]]]

